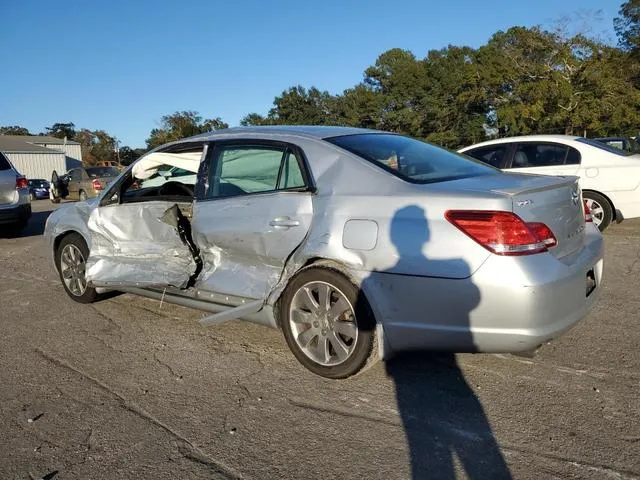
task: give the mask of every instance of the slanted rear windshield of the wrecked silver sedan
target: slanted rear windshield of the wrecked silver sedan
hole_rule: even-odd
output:
[[[365,133],[326,140],[414,183],[442,182],[499,171],[469,157],[400,135]]]

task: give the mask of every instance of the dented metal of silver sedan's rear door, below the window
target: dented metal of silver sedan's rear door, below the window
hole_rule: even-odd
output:
[[[198,288],[266,298],[307,236],[312,216],[308,192],[196,202],[191,223],[204,261]]]

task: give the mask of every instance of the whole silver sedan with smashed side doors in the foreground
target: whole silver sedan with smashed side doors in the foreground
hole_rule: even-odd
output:
[[[196,173],[145,187],[158,168]],[[329,378],[406,350],[527,351],[586,315],[602,236],[575,177],[506,174],[400,135],[250,127],[141,157],[54,211],[62,285],[280,328]]]

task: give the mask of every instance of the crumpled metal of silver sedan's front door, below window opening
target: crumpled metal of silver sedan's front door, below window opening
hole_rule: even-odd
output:
[[[176,227],[162,221],[173,205],[146,202],[95,209],[87,224],[87,280],[104,287],[185,288],[196,262]]]

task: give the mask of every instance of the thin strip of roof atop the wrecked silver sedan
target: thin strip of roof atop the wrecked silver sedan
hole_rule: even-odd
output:
[[[201,133],[193,137],[185,138],[184,140],[214,140],[220,136],[244,136],[251,134],[274,134],[274,135],[294,135],[300,137],[312,137],[318,139],[325,139],[331,137],[342,137],[345,135],[358,135],[365,133],[387,133],[381,130],[372,130],[369,128],[356,128],[356,127],[340,127],[330,125],[261,125],[255,127],[232,127],[224,128],[221,130],[214,130],[212,132]]]

